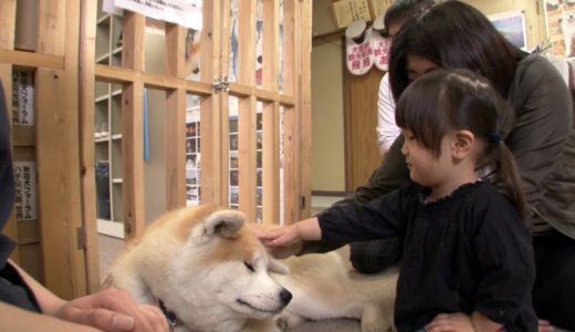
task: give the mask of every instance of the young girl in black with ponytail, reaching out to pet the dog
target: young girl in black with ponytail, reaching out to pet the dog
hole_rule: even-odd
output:
[[[396,122],[415,184],[368,205],[346,205],[259,234],[281,258],[303,240],[404,241],[399,331],[536,331],[534,261],[513,156],[501,141],[506,103],[466,70],[436,70],[398,101]],[[508,197],[475,169],[495,163]]]

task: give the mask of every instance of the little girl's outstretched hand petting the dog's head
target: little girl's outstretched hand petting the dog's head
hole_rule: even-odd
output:
[[[255,237],[274,258],[283,259],[302,251],[302,239],[295,224],[271,230],[257,230]]]

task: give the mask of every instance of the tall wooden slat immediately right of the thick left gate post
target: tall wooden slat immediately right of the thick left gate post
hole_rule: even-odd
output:
[[[82,216],[86,239],[87,292],[100,289],[100,252],[96,224],[96,186],[94,160],[94,64],[96,49],[97,0],[82,1],[82,25],[80,43],[80,139],[82,160]]]

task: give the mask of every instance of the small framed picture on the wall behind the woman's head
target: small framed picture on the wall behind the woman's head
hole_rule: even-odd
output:
[[[527,35],[525,33],[525,13],[523,11],[509,11],[488,17],[512,44],[527,51]]]

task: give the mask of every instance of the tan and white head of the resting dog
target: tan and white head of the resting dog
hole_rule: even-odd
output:
[[[164,228],[169,227],[181,245],[172,255],[169,282],[179,292],[175,298],[185,301],[179,310],[186,310],[186,303],[194,304],[194,320],[268,319],[290,302],[292,294],[270,274],[286,273],[288,268],[244,227],[242,212],[188,208],[161,222],[169,225]]]

